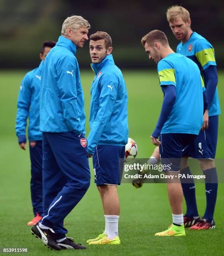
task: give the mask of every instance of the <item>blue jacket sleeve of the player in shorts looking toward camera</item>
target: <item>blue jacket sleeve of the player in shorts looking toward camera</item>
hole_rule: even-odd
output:
[[[105,75],[101,79],[99,110],[87,138],[89,154],[94,153],[94,148],[101,138],[106,124],[111,118],[114,103],[117,98],[118,83],[118,77],[115,74]]]

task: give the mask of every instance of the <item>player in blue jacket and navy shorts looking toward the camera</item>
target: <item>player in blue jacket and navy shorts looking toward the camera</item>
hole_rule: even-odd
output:
[[[93,155],[95,183],[101,195],[105,230],[87,243],[120,244],[118,219],[120,203],[117,186],[121,184],[125,145],[128,141],[126,84],[114,64],[111,37],[106,32],[90,36],[90,55],[95,77],[91,86],[88,154]]]

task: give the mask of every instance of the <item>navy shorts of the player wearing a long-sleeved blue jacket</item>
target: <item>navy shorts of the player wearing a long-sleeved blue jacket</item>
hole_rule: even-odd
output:
[[[121,184],[124,154],[125,146],[96,146],[93,154],[93,172],[97,186]]]

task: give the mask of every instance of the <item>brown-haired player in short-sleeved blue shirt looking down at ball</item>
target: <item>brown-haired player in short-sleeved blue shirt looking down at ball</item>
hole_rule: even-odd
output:
[[[182,208],[183,191],[179,179],[182,151],[194,142],[203,124],[204,83],[199,68],[190,59],[170,48],[166,35],[159,30],[141,39],[149,59],[157,63],[161,89],[164,93],[161,114],[151,135],[159,146],[161,161],[167,177],[167,192],[173,224],[155,236],[185,236]],[[159,138],[159,139],[158,139]],[[173,178],[169,178],[173,174]]]

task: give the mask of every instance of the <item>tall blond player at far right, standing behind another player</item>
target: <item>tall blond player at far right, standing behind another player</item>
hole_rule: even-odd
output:
[[[207,109],[204,113],[204,130],[199,133],[195,142],[184,150],[181,163],[181,173],[191,174],[187,164],[188,157],[199,159],[200,167],[206,175],[206,210],[200,219],[195,196],[194,179],[183,183],[183,192],[187,211],[185,215],[186,226],[193,225],[191,229],[215,228],[214,209],[216,204],[218,179],[215,166],[215,154],[218,137],[218,122],[220,106],[217,90],[218,75],[213,46],[198,33],[191,29],[191,19],[188,10],[181,6],[172,6],[166,13],[169,26],[174,36],[181,40],[176,52],[192,59],[199,67],[206,87]]]

